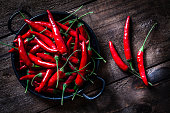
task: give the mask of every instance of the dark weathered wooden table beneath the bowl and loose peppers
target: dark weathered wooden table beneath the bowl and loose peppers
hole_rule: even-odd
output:
[[[83,18],[94,30],[100,44],[101,55],[107,63],[101,61],[98,75],[105,79],[103,94],[92,101],[76,97],[60,106],[60,101],[45,100],[24,88],[17,80],[11,65],[9,47],[0,45],[0,112],[118,112],[118,113],[169,113],[170,80],[166,79],[152,88],[147,88],[141,80],[130,73],[122,72],[113,61],[108,41],[112,41],[125,61],[123,52],[123,27],[127,16],[131,16],[131,45],[134,62],[146,34],[154,22],[158,26],[151,33],[144,53],[145,68],[150,74],[159,68],[170,68],[170,1],[169,0],[1,0],[0,1],[0,41],[11,44],[15,35],[7,28],[9,17],[18,9],[25,9],[33,16],[54,11],[71,12],[79,6],[84,7],[79,16],[93,11]],[[24,23],[21,17],[13,22],[13,28]],[[17,24],[16,24],[17,23]],[[136,67],[137,69],[137,67]],[[170,70],[166,73],[169,74]],[[162,73],[163,75],[163,73]],[[170,75],[170,74],[169,74]],[[100,89],[89,88],[86,93],[95,94]]]

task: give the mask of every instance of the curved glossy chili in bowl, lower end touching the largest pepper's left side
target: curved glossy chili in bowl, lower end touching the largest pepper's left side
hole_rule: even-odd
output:
[[[44,49],[45,51],[47,51],[49,53],[58,53],[59,52],[58,49],[52,49],[52,48],[48,47],[43,41],[39,40],[37,37],[35,37],[34,39],[37,42],[37,44],[40,45],[40,47],[42,49]]]

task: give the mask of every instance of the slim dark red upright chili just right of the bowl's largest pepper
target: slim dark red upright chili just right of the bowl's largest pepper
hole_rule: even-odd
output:
[[[76,29],[76,37],[75,37],[75,44],[74,44],[73,52],[76,51],[76,50],[78,50],[78,48],[79,48],[79,47],[78,47],[78,45],[79,45],[79,34],[80,34],[79,30]],[[78,52],[75,52],[75,53],[74,53],[74,56],[75,56],[76,58],[78,58]]]

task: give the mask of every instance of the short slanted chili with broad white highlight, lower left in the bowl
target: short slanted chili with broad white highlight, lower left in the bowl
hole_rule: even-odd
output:
[[[43,80],[41,81],[39,87],[35,88],[35,91],[41,92],[42,88],[46,85],[53,72],[54,71],[52,69],[47,69]]]

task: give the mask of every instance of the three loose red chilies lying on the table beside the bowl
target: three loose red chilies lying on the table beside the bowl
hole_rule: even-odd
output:
[[[132,74],[136,75],[138,78],[142,79],[146,86],[148,86],[148,84],[150,84],[152,86],[152,84],[150,82],[148,82],[147,76],[146,76],[146,73],[145,73],[144,61],[143,61],[143,50],[144,50],[145,42],[146,42],[150,32],[153,30],[153,28],[155,27],[156,24],[157,23],[155,23],[152,26],[152,28],[150,29],[149,33],[147,34],[147,36],[145,38],[145,41],[144,41],[142,47],[140,48],[140,50],[137,53],[137,63],[138,63],[139,73],[137,73],[135,71],[135,69],[133,68],[133,65],[132,65],[132,55],[131,55],[130,40],[129,40],[130,16],[128,16],[127,19],[126,19],[126,23],[125,23],[125,26],[124,26],[124,37],[123,37],[124,53],[125,53],[125,57],[126,57],[127,62],[129,63],[130,68],[120,58],[120,56],[118,55],[113,43],[111,41],[109,41],[109,48],[110,48],[111,55],[112,55],[115,63],[118,65],[118,67],[121,70],[129,71]]]

